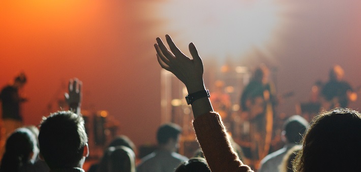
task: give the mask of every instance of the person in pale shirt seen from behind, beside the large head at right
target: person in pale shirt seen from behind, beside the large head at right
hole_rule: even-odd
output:
[[[264,157],[261,160],[258,171],[279,171],[278,166],[281,164],[284,155],[294,145],[300,144],[302,135],[305,133],[308,125],[309,123],[307,120],[299,115],[289,117],[283,124],[283,131],[281,136],[285,146],[282,149]]]

